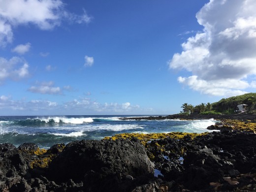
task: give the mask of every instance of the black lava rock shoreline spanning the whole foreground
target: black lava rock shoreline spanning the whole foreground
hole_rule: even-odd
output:
[[[254,122],[253,117],[243,115],[239,120]],[[137,137],[82,140],[49,150],[32,143],[18,148],[4,143],[0,144],[0,191],[256,191],[256,134],[223,130],[144,145]]]

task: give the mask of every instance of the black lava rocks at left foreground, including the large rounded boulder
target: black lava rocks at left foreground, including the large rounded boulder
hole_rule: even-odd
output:
[[[126,192],[153,178],[154,164],[135,138],[82,140],[48,151],[32,143],[0,144],[0,189],[6,192]]]

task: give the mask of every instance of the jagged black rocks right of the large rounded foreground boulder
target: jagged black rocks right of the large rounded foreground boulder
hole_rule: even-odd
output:
[[[170,191],[256,190],[256,134],[212,132],[155,140],[146,148]]]

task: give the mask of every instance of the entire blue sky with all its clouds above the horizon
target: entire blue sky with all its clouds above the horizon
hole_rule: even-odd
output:
[[[255,0],[0,0],[0,115],[168,115],[256,92]]]

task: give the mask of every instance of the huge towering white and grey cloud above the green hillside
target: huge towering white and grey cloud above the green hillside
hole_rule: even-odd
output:
[[[196,14],[204,31],[182,44],[169,61],[171,69],[185,69],[190,77],[178,81],[214,96],[246,93],[256,75],[256,1],[211,0]],[[227,11],[228,10],[228,11]]]

